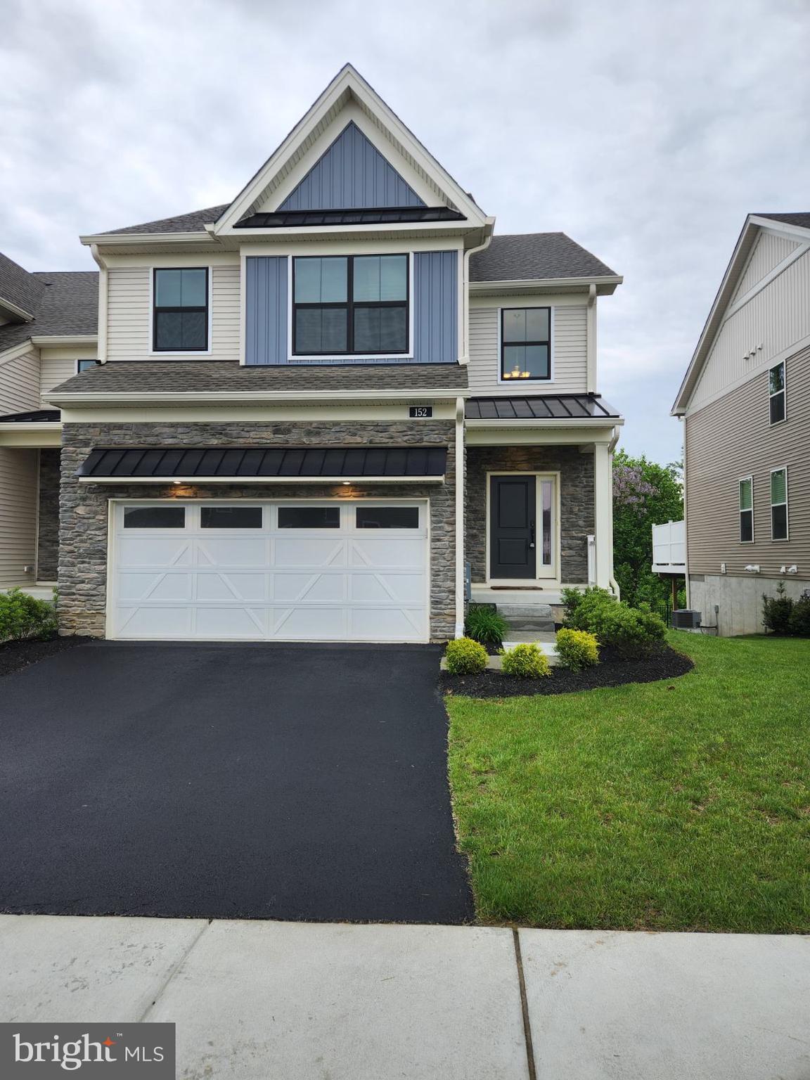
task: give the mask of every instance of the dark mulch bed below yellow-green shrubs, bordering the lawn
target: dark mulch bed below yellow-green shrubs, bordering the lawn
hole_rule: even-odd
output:
[[[693,666],[689,657],[669,647],[643,660],[627,660],[612,649],[600,649],[599,663],[595,667],[585,667],[581,672],[552,667],[549,678],[517,678],[498,671],[485,671],[480,675],[441,672],[438,681],[442,693],[463,694],[467,698],[517,698],[536,693],[573,693],[603,686],[623,686],[625,683],[657,683],[686,675]]]

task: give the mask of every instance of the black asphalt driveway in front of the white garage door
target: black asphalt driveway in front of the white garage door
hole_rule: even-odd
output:
[[[0,680],[0,910],[472,919],[431,646],[93,643]]]

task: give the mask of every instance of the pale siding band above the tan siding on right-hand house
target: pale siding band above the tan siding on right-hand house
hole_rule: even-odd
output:
[[[792,262],[725,321],[692,394],[689,414],[745,379],[758,378],[764,366],[771,366],[808,340],[810,252]],[[754,357],[746,360],[752,350]]]

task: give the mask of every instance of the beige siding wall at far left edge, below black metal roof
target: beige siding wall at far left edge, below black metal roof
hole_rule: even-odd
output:
[[[0,589],[33,582],[23,567],[37,557],[37,450],[0,446]]]

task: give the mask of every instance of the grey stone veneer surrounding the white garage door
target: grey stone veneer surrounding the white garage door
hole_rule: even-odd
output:
[[[429,499],[431,526],[431,637],[454,636],[455,424],[395,421],[287,421],[66,423],[63,429],[59,530],[59,624],[62,634],[105,634],[108,499]],[[94,447],[117,446],[424,446],[447,447],[444,484],[233,484],[176,486],[81,484],[76,471]]]

